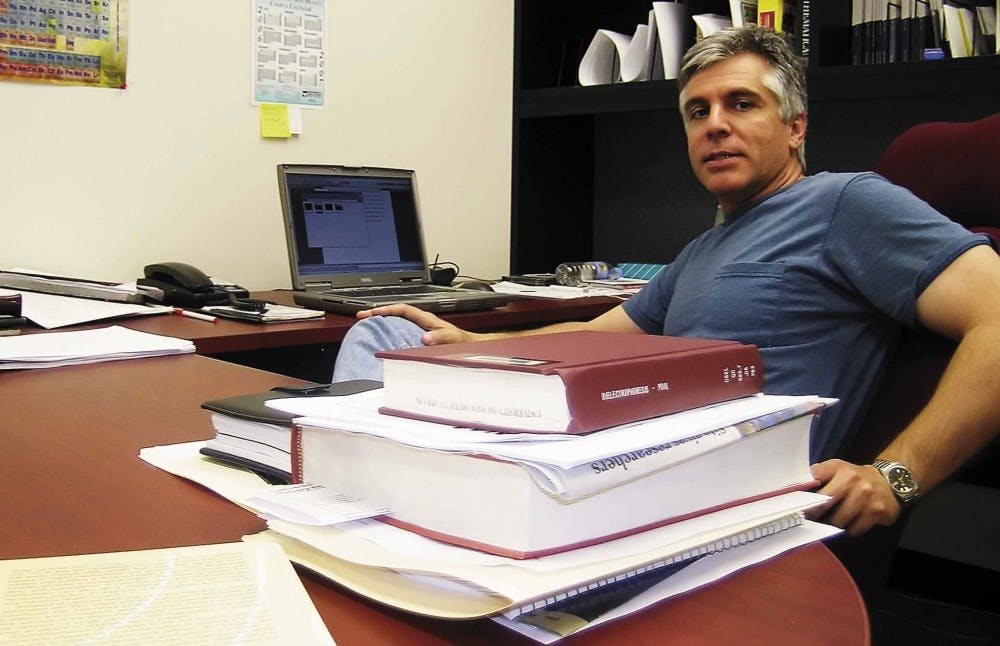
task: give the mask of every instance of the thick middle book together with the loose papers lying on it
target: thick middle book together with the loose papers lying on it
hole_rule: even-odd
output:
[[[293,481],[387,507],[397,527],[516,559],[813,487],[809,427],[827,403],[757,396],[538,436],[394,418],[378,412],[381,395],[269,402],[298,417]]]

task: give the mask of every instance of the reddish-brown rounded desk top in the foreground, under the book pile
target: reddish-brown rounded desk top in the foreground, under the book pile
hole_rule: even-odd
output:
[[[263,523],[249,512],[138,453],[210,437],[200,408],[206,399],[281,383],[294,380],[192,355],[0,372],[0,558],[222,543],[260,531]],[[409,615],[308,573],[302,578],[341,646],[534,643],[488,620]],[[857,587],[817,544],[564,643],[668,639],[844,646],[866,645],[869,635]]]

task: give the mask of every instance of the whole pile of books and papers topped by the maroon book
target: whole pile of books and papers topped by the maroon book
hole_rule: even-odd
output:
[[[760,394],[752,346],[573,332],[385,356],[404,372],[387,369],[384,388],[253,402],[282,420],[273,444],[288,442],[291,482],[388,512],[323,526],[271,518],[247,540],[277,542],[373,599],[492,616],[544,641],[565,632],[554,611],[582,618],[579,630],[626,599],[641,607],[838,531],[804,517],[827,501],[808,491],[809,430],[833,400]],[[430,395],[409,391],[439,370],[454,379],[425,415]],[[217,444],[235,407],[206,408]]]

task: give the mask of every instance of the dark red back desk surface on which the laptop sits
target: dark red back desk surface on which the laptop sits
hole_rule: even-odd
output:
[[[255,292],[262,298],[292,305],[292,292]],[[607,296],[569,300],[532,298],[481,312],[447,314],[445,319],[468,330],[544,325],[561,321],[586,321],[603,314],[621,301]],[[339,343],[355,319],[327,314],[317,321],[266,325],[220,319],[206,323],[180,316],[144,316],[122,319],[119,324],[143,332],[166,334],[194,341],[199,354],[239,352],[293,345]],[[106,325],[106,323],[104,323]]]

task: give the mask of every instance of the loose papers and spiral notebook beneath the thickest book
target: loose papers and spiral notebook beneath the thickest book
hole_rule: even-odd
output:
[[[200,443],[151,447],[140,457],[260,513],[252,501],[273,485],[244,471],[200,459]],[[838,533],[804,520],[802,511],[827,500],[793,492],[705,514],[665,527],[534,559],[510,559],[448,545],[378,520],[317,526],[271,518],[269,530],[245,541],[280,544],[288,557],[345,587],[404,610],[451,619],[493,616],[549,643],[717,581],[801,545]],[[645,590],[623,591],[599,614],[544,624],[544,609],[567,599],[595,600],[649,573]],[[582,613],[581,613],[582,614]]]

